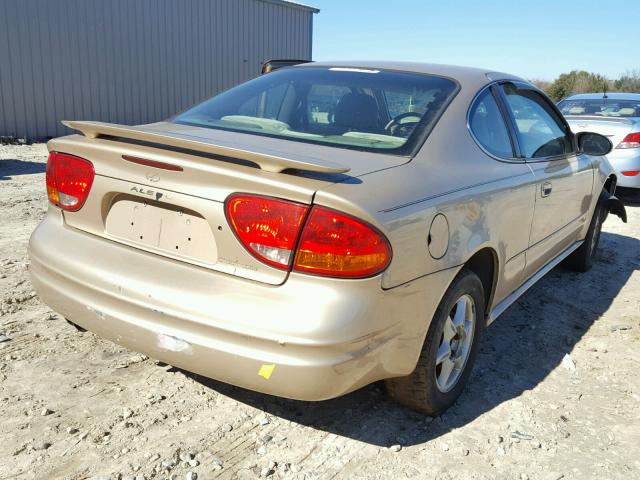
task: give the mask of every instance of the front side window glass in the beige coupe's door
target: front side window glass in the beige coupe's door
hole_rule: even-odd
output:
[[[573,150],[571,138],[557,113],[535,90],[503,85],[507,106],[516,122],[522,154],[527,158],[564,155]]]

